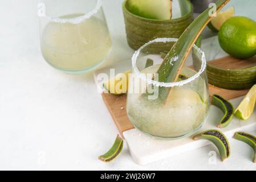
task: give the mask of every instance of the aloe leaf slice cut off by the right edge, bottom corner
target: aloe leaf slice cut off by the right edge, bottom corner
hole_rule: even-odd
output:
[[[237,133],[235,133],[234,138],[249,144],[249,146],[251,146],[251,148],[253,148],[253,150],[254,150],[253,162],[256,163],[256,137],[251,134],[237,132]]]

